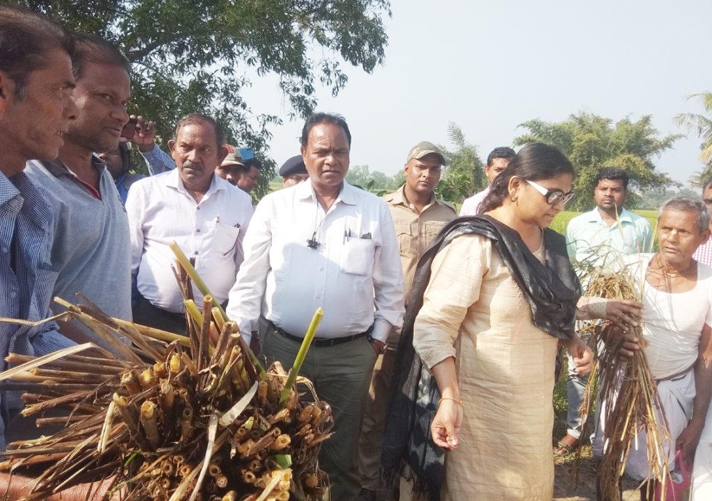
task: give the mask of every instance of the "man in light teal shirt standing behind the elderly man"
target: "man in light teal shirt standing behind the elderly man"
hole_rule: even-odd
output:
[[[628,174],[623,169],[604,167],[594,183],[595,209],[576,216],[566,228],[567,250],[575,268],[600,268],[612,265],[626,254],[651,252],[650,223],[623,207],[628,194]],[[567,431],[554,449],[556,455],[569,453],[581,437],[579,408],[586,384],[587,376],[576,374],[569,363]]]

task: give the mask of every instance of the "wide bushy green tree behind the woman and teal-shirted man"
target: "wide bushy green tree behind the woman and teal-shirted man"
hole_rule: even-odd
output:
[[[667,174],[657,172],[655,159],[672,147],[679,135],[659,137],[646,115],[634,122],[628,117],[615,124],[609,118],[580,112],[557,123],[529,120],[520,124],[528,132],[516,137],[514,144],[545,142],[558,147],[576,169],[572,210],[583,211],[594,206],[593,180],[601,167],[624,169],[631,180],[626,206],[639,203],[639,192],[663,191],[676,185]]]

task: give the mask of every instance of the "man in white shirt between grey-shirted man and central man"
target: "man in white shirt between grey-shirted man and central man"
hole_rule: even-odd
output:
[[[216,176],[227,150],[220,125],[192,113],[168,142],[177,169],[137,181],[126,211],[131,235],[131,273],[140,297],[137,323],[184,333],[183,297],[168,244],[176,241],[218,302],[227,300],[242,262],[242,236],[252,216],[250,196]],[[195,285],[193,294],[202,304]]]

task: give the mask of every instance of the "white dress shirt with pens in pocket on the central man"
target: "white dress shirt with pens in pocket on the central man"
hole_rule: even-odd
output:
[[[314,236],[314,237],[313,237]],[[307,241],[314,238],[316,248]],[[403,273],[393,220],[377,196],[344,181],[325,213],[310,182],[265,196],[244,241],[227,315],[249,333],[261,313],[303,336],[318,307],[317,337],[364,332],[386,340],[403,322]]]

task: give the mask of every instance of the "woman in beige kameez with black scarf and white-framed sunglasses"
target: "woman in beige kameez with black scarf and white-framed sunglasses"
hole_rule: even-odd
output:
[[[573,174],[557,149],[528,145],[493,184],[485,218],[518,233],[518,252],[544,263],[543,228],[571,198]],[[448,450],[441,499],[551,500],[560,339],[535,325],[531,301],[491,238],[455,236],[430,269],[413,332],[441,394],[431,424],[434,443]],[[590,349],[573,332],[566,339],[579,370],[589,370]]]

